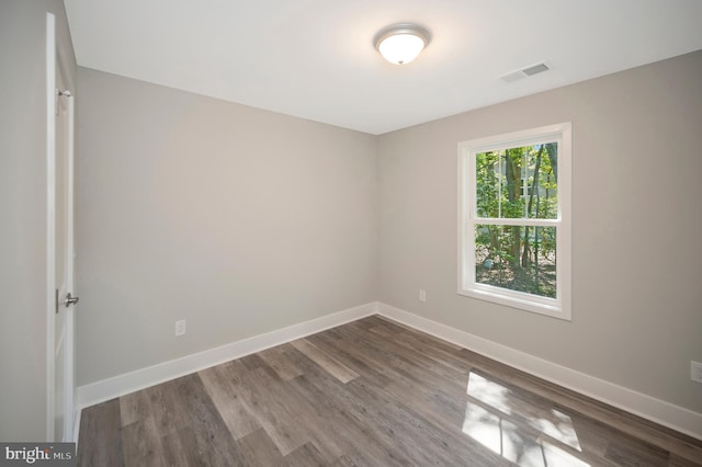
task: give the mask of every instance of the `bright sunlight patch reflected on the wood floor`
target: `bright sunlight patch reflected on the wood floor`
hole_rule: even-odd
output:
[[[589,466],[570,417],[476,373],[468,376],[463,432],[520,466]]]

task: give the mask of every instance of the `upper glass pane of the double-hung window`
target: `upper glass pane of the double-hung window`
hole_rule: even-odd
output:
[[[558,144],[546,143],[475,155],[479,217],[555,219]]]

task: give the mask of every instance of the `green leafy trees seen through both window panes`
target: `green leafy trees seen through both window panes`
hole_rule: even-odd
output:
[[[519,219],[557,218],[558,144],[477,152],[475,158],[476,282],[555,298],[556,227]]]

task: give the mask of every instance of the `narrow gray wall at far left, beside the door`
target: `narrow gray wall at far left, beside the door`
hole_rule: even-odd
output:
[[[46,437],[46,12],[69,88],[60,0],[0,2],[0,441]]]

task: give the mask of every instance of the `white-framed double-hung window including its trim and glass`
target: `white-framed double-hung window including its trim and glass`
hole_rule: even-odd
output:
[[[570,133],[458,144],[458,294],[570,319]]]

